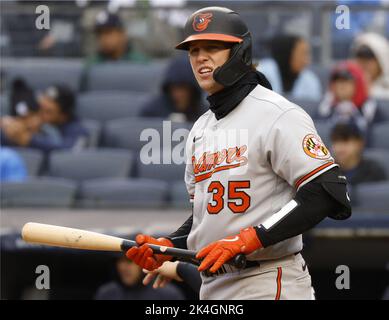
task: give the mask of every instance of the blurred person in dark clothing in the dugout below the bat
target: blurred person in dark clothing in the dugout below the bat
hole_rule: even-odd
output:
[[[184,296],[173,285],[154,290],[142,284],[142,269],[126,257],[116,262],[117,280],[102,285],[96,300],[183,300]]]

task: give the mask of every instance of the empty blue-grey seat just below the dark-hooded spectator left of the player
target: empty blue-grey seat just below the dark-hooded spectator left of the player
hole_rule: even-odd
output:
[[[140,150],[148,141],[153,140],[157,143],[157,147],[166,148],[167,146],[163,145],[163,141],[166,141],[165,138],[175,146],[181,140],[186,140],[191,125],[190,123],[164,122],[164,119],[161,118],[111,120],[106,123],[104,128],[103,143],[107,147]],[[178,131],[177,129],[181,130]],[[165,133],[165,138],[163,133]],[[184,138],[180,141],[172,141],[170,134],[173,133]]]

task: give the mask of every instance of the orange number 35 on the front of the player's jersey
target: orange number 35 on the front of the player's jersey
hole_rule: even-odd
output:
[[[228,181],[227,206],[233,213],[244,213],[250,207],[250,196],[239,189],[250,188],[250,181]],[[212,201],[208,203],[209,214],[218,214],[224,209],[225,188],[220,181],[212,181],[208,186],[208,193],[212,193]]]

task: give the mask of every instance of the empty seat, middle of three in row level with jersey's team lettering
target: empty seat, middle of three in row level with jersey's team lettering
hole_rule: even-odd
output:
[[[127,177],[133,162],[128,150],[96,149],[50,154],[49,175],[81,182],[94,178]]]

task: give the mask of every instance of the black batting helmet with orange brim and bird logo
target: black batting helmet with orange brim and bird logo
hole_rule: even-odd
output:
[[[184,41],[176,49],[188,50],[196,40],[216,40],[232,44],[230,58],[213,73],[214,79],[231,86],[251,70],[251,35],[247,25],[235,11],[207,7],[193,13],[184,28]]]

